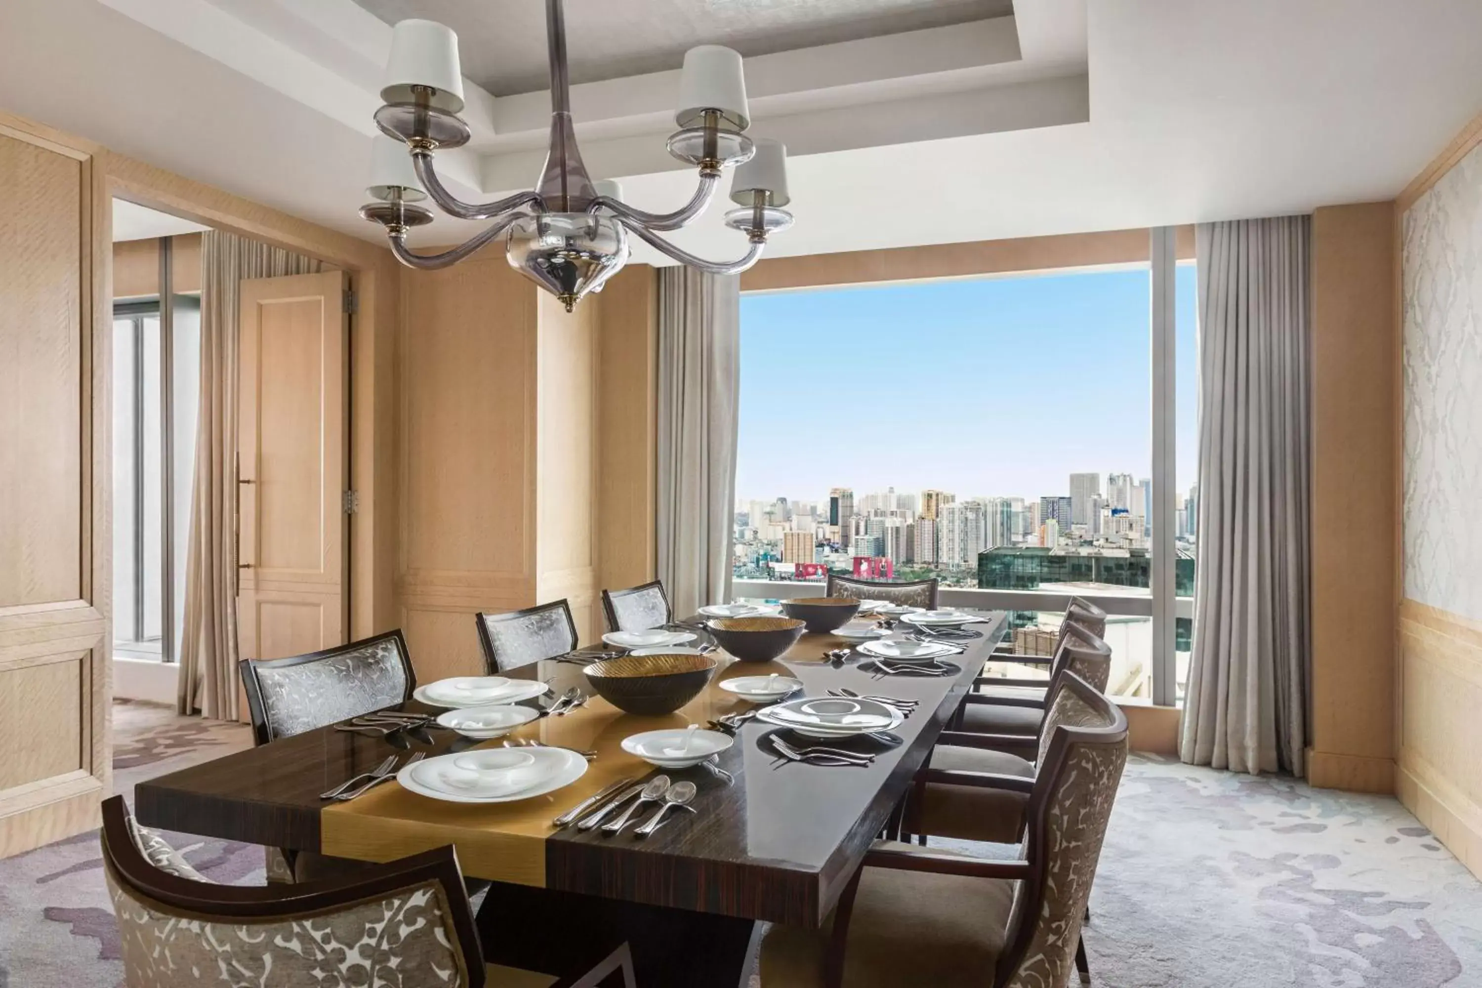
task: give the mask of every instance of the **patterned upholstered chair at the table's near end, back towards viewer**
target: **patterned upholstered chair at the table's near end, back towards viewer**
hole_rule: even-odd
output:
[[[350,880],[224,886],[114,795],[102,804],[102,861],[127,988],[194,988],[227,970],[234,985],[274,988],[596,988],[619,970],[634,984],[625,944],[575,979],[486,964],[452,847]]]

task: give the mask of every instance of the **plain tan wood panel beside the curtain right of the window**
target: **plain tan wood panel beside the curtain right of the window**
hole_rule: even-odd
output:
[[[1395,209],[1312,219],[1313,785],[1393,792]],[[1341,505],[1341,508],[1340,508]]]

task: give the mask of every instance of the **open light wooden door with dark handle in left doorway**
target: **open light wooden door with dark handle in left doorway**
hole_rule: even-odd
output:
[[[344,293],[342,271],[242,283],[237,635],[245,659],[345,641]]]

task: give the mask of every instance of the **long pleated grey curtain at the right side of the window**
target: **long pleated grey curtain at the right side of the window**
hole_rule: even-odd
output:
[[[1303,775],[1310,598],[1307,216],[1200,224],[1199,521],[1184,761]]]

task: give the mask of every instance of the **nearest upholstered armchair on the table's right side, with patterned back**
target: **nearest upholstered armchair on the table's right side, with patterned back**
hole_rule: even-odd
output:
[[[877,843],[821,929],[774,926],[763,988],[1066,988],[1126,764],[1126,717],[1073,686],[1024,792],[1024,843],[983,859]]]

